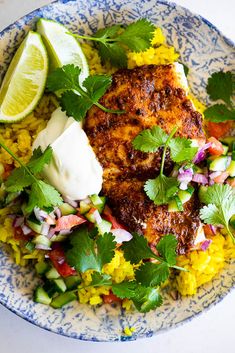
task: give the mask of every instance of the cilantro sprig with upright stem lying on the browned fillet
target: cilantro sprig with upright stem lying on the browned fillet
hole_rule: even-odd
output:
[[[167,135],[159,126],[143,130],[133,140],[135,149],[142,152],[156,152],[163,147],[160,174],[155,179],[149,179],[144,185],[144,190],[155,205],[167,204],[177,193],[179,182],[176,178],[164,175],[164,163],[167,149],[170,149],[170,157],[175,163],[190,161],[197,153],[197,148],[191,146],[191,140],[186,138],[173,138],[177,131],[175,127],[170,135]]]

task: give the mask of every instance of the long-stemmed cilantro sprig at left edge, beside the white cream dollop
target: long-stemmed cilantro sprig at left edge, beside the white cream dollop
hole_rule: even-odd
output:
[[[44,208],[58,206],[62,203],[58,191],[37,176],[52,158],[53,151],[50,146],[43,153],[40,148],[34,150],[33,156],[26,165],[2,141],[0,141],[0,146],[20,165],[19,168],[13,170],[5,186],[8,192],[25,191],[28,194],[26,212],[30,213],[35,206]]]

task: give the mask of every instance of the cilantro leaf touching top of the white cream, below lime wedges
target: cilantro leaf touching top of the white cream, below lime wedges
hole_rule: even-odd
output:
[[[61,109],[66,112],[67,116],[72,116],[75,120],[81,121],[92,107],[93,102],[86,97],[78,96],[73,91],[66,91],[61,96],[60,104]]]

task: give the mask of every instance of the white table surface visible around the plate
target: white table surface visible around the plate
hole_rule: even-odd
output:
[[[85,1],[85,0],[84,0]],[[50,0],[0,0],[0,30]],[[175,0],[235,41],[234,0]],[[1,290],[1,289],[0,289]],[[1,353],[220,353],[235,351],[235,291],[208,312],[153,338],[126,343],[81,342],[42,330],[0,305]]]

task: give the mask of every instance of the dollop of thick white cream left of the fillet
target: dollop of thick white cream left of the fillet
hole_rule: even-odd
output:
[[[56,109],[46,128],[33,143],[33,149],[53,149],[51,162],[44,167],[45,179],[64,197],[83,200],[98,194],[102,187],[103,170],[96,159],[81,123]]]

